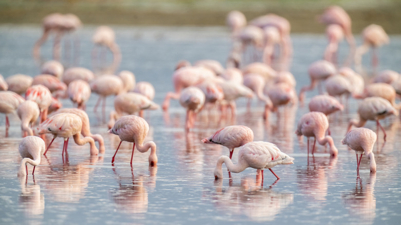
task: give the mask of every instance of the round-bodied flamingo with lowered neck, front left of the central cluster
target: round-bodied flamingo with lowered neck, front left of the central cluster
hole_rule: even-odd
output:
[[[181,91],[179,103],[187,109],[185,128],[188,130],[193,127],[196,113],[205,104],[205,93],[198,87],[187,87]]]

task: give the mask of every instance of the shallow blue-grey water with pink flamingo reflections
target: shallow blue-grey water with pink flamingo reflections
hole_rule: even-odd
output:
[[[85,26],[78,32],[80,54],[64,52],[68,66],[92,68],[90,36],[96,27]],[[161,104],[167,91],[173,90],[171,76],[178,60],[190,62],[214,59],[225,63],[230,50],[227,30],[223,27],[114,27],[122,50],[119,70],[133,71],[138,81],[150,81],[156,89],[155,102]],[[32,59],[32,46],[41,35],[39,26],[0,26],[0,71],[4,77],[15,73],[39,74]],[[74,37],[74,36],[71,36]],[[294,34],[294,58],[290,71],[297,79],[297,91],[309,83],[307,67],[320,59],[326,44],[323,35]],[[73,39],[68,39],[73,40]],[[360,43],[360,38],[357,36]],[[71,44],[72,45],[72,44]],[[65,47],[63,45],[63,47]],[[340,47],[340,59],[347,54],[347,44]],[[391,36],[391,44],[380,49],[380,68],[401,70],[401,37]],[[43,60],[51,59],[51,42],[42,48]],[[111,61],[111,55],[107,55]],[[369,65],[369,54],[363,58]],[[107,67],[103,66],[103,67]],[[103,68],[104,69],[104,68]],[[368,76],[372,69],[365,67]],[[306,94],[305,105],[317,90]],[[159,162],[148,167],[149,153],[135,152],[130,166],[132,143],[123,143],[111,158],[119,139],[107,134],[101,114],[93,113],[97,96],[92,95],[87,113],[92,133],[104,137],[106,152],[89,156],[89,146],[77,146],[72,140],[68,155],[62,157],[61,138],[56,139],[47,157],[35,170],[35,176],[19,180],[16,176],[21,157],[17,151],[21,140],[20,122],[11,116],[11,128],[5,137],[5,119],[0,117],[0,223],[2,224],[216,224],[216,223],[347,223],[397,224],[401,219],[401,141],[400,121],[396,117],[382,122],[387,132],[384,144],[379,133],[375,145],[376,175],[369,173],[362,159],[360,176],[356,173],[354,151],[340,144],[347,121],[356,118],[357,101],[350,100],[348,110],[330,118],[330,126],[339,155],[330,159],[328,148],[319,146],[315,157],[306,154],[306,139],[295,135],[296,123],[307,107],[287,108],[280,118],[270,115],[263,121],[263,106],[256,100],[246,110],[246,100],[237,101],[235,121],[199,115],[195,128],[185,133],[185,111],[172,101],[169,113],[148,111],[148,140],[157,144]],[[107,113],[113,109],[113,98],[107,98]],[[64,107],[71,107],[63,100]],[[282,111],[283,112],[283,111]],[[244,124],[252,128],[255,140],[276,143],[281,151],[294,157],[295,164],[274,168],[281,180],[266,171],[261,188],[255,180],[256,170],[240,174],[224,173],[214,181],[213,170],[225,147],[206,145],[201,139],[217,129]],[[376,130],[374,122],[366,127]],[[49,143],[51,136],[47,136]],[[233,161],[237,161],[234,153]],[[224,167],[224,166],[223,166]],[[31,173],[29,167],[28,173]]]

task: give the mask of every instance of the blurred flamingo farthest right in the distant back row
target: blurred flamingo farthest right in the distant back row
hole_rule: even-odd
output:
[[[369,47],[372,47],[372,65],[373,68],[376,68],[379,62],[377,57],[377,48],[384,44],[390,43],[389,36],[381,26],[371,24],[363,29],[362,39],[363,44],[359,46],[355,51],[355,66],[361,66],[362,55],[369,50]]]

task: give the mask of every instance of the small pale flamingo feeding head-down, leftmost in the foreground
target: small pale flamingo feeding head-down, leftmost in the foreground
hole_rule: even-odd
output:
[[[35,172],[35,167],[41,163],[41,156],[45,152],[46,144],[42,138],[36,136],[28,136],[21,140],[18,151],[22,157],[19,177],[28,175],[27,163],[33,165],[32,175]]]

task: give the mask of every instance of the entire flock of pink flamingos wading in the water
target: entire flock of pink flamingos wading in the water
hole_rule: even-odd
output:
[[[280,106],[298,101],[302,103],[306,91],[314,89],[317,85],[321,90],[321,84],[325,81],[327,94],[311,99],[308,105],[311,112],[303,115],[298,121],[296,134],[307,137],[308,154],[309,138],[314,137],[312,155],[317,141],[321,145],[328,143],[331,157],[337,157],[337,143],[334,143],[330,136],[327,116],[337,110],[343,110],[344,106],[347,107],[347,104],[340,103],[342,96],[345,96],[345,101],[349,96],[363,99],[358,107],[359,119],[349,121],[348,134],[341,142],[355,150],[357,171],[364,154],[370,160],[371,173],[375,173],[376,163],[372,149],[377,135],[362,126],[368,120],[376,121],[386,140],[385,130],[379,120],[398,115],[400,106],[395,104],[395,98],[396,93],[401,92],[401,79],[397,72],[384,70],[373,78],[372,83],[365,85],[363,78],[350,67],[338,68],[337,50],[339,43],[345,38],[350,49],[345,65],[355,65],[355,68],[358,68],[361,65],[362,54],[372,47],[372,67],[375,69],[378,64],[376,50],[388,43],[389,37],[380,26],[370,25],[362,32],[363,45],[356,47],[351,32],[350,16],[338,6],[327,8],[319,20],[327,25],[329,44],[322,54],[324,59],[309,66],[311,84],[302,87],[299,95],[295,91],[293,74],[285,69],[293,54],[289,22],[275,14],[263,15],[247,22],[243,13],[231,11],[227,15],[227,24],[232,32],[232,51],[228,55],[227,68],[223,68],[214,60],[202,60],[194,65],[185,60],[178,62],[172,77],[174,91],[167,93],[161,108],[168,110],[170,100],[178,99],[187,110],[185,129],[189,130],[193,128],[196,114],[200,110],[218,109],[222,117],[234,117],[237,98],[251,99],[256,96],[265,104],[263,118],[268,120],[270,111],[277,112]],[[104,153],[103,138],[90,132],[89,118],[85,113],[85,103],[93,92],[99,96],[94,110],[97,110],[100,101],[103,100],[103,113],[105,98],[110,95],[116,96],[115,110],[110,114],[110,121],[107,123],[108,133],[118,135],[121,142],[133,142],[132,154],[135,146],[142,153],[150,149],[149,165],[157,164],[156,143],[144,143],[149,125],[142,118],[143,110],[159,108],[159,105],[152,101],[155,96],[152,84],[136,83],[134,74],[130,71],[95,77],[92,71],[82,67],[71,67],[64,71],[63,65],[58,62],[63,34],[80,26],[79,18],[73,14],[54,13],[46,16],[43,20],[43,36],[35,43],[33,54],[38,57],[41,46],[48,36],[53,34],[54,60],[44,63],[42,74],[33,78],[16,74],[4,80],[0,76],[0,111],[6,114],[6,129],[10,126],[7,115],[16,113],[21,119],[25,137],[19,146],[23,159],[18,176],[27,176],[28,163],[34,166],[33,175],[35,166],[41,162],[41,155],[46,155],[57,137],[64,138],[62,154],[67,151],[68,139],[71,136],[78,145],[89,143],[90,155]],[[110,49],[114,62],[118,63],[121,60],[115,33],[110,27],[99,27],[93,35],[93,42]],[[94,51],[93,56],[96,54]],[[272,69],[273,62],[281,68]],[[77,107],[61,108],[59,98],[69,98]],[[38,127],[32,129],[38,120]],[[353,126],[358,128],[352,129]],[[34,136],[35,133],[40,137]],[[48,146],[45,146],[43,141],[45,134],[53,135],[53,140]],[[98,142],[99,147],[95,142]],[[224,127],[202,142],[220,144],[229,149],[229,156],[221,156],[217,160],[215,179],[223,178],[222,164],[225,163],[229,172],[233,173],[240,173],[247,167],[256,168],[257,173],[262,176],[263,185],[265,168],[280,179],[271,168],[278,164],[294,163],[294,158],[281,152],[275,144],[253,141],[252,130],[243,125]],[[237,164],[231,161],[234,148],[239,148]]]

